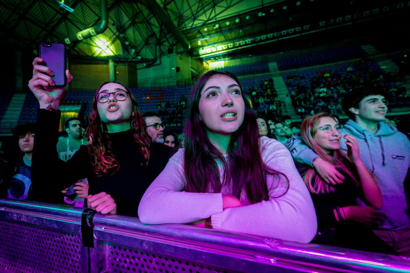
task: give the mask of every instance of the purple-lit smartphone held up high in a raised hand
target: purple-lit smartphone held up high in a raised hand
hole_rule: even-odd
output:
[[[40,43],[40,58],[54,72],[51,77],[56,86],[66,85],[66,45],[62,43]]]

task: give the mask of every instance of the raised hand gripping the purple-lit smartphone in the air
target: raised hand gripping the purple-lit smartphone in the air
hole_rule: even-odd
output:
[[[60,99],[63,95],[65,86],[55,87],[52,80],[54,73],[47,66],[41,65],[43,59],[36,57],[33,61],[33,77],[30,79],[28,87],[34,96],[39,100],[40,108],[58,109]],[[66,70],[67,84],[73,79],[70,72]]]

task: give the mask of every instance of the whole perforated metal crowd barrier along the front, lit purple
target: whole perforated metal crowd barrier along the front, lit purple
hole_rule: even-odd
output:
[[[410,259],[0,199],[0,272],[410,272]]]

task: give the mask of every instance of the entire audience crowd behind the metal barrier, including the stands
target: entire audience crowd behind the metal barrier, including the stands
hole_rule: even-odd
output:
[[[272,78],[242,90],[211,70],[144,114],[126,86],[103,83],[87,130],[71,118],[59,141],[64,88],[41,63],[29,83],[37,124],[17,126],[16,149],[1,153],[0,197],[410,256],[410,123],[386,118],[407,91],[371,61],[290,74],[284,101]]]

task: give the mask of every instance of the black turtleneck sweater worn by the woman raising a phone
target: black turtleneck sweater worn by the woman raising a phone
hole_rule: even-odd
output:
[[[114,199],[118,214],[137,217],[142,195],[168,162],[169,147],[160,143],[151,144],[150,161],[146,167],[141,165],[144,158],[131,129],[109,133],[110,149],[120,168],[113,175],[96,176],[86,145],[81,145],[67,162],[59,160],[56,148],[59,119],[59,111],[39,109],[37,113],[32,157],[32,199],[62,203],[61,190],[87,177],[89,194],[106,192]]]

